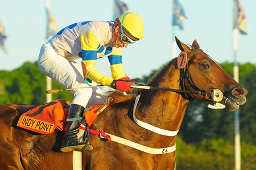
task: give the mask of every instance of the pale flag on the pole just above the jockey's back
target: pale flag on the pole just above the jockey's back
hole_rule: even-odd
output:
[[[46,0],[46,14],[47,14],[47,28],[46,28],[46,39],[50,36],[54,36],[60,31],[59,24],[56,19],[49,12],[49,0]]]

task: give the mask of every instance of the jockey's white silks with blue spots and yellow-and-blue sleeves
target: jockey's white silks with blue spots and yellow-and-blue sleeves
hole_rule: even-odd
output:
[[[113,79],[100,73],[95,66],[98,58],[109,57],[112,78],[125,76],[122,66],[123,49],[115,48],[113,45],[112,28],[113,23],[108,21],[79,22],[61,29],[48,42],[57,54],[69,61],[82,58],[89,79],[102,85],[111,86]]]

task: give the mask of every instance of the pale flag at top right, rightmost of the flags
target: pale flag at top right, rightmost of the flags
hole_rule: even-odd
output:
[[[234,0],[234,11],[233,11],[233,29],[239,29],[242,35],[247,35],[245,29],[248,28],[247,20],[245,17],[245,10],[243,9],[240,0]]]

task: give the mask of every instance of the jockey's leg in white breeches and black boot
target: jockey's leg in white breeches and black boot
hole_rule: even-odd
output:
[[[72,56],[69,56],[72,57]],[[92,96],[92,88],[79,88],[87,87],[88,83],[84,83],[84,76],[82,74],[82,67],[76,61],[76,58],[65,58],[55,52],[50,43],[44,44],[40,50],[38,66],[42,73],[46,74],[57,83],[61,84],[64,88],[75,88],[71,90],[74,95],[71,108],[69,110],[70,117],[81,117],[84,113],[84,108],[88,104]],[[79,131],[80,121],[68,122],[68,132],[66,142],[63,143],[61,150],[64,152],[75,150],[92,150],[92,146],[86,143],[77,143],[79,146],[75,147],[74,141],[77,141],[77,132]],[[72,141],[72,142],[70,142]],[[89,140],[88,140],[89,141]],[[69,147],[71,146],[72,147]],[[74,146],[73,146],[74,145]],[[82,146],[85,146],[82,148]]]

